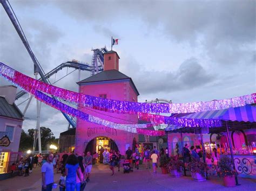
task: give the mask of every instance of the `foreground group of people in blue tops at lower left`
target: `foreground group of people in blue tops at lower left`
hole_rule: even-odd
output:
[[[92,155],[63,154],[62,158],[54,160],[56,155],[46,154],[46,162],[42,165],[42,190],[51,190],[54,182],[53,171],[61,172],[59,190],[84,190],[86,182],[90,181]]]

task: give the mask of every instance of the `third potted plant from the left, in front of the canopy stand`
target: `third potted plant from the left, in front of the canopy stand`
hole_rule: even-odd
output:
[[[205,172],[207,165],[204,162],[198,161],[195,158],[191,158],[191,162],[187,165],[188,169],[191,171],[191,176],[196,181],[204,181]]]

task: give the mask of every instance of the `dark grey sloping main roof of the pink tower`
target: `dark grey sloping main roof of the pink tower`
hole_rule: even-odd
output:
[[[134,89],[136,90],[136,93],[139,95],[139,91],[137,90],[135,84],[133,83],[131,77],[126,76],[122,72],[119,72],[116,69],[111,69],[111,70],[104,70],[103,72],[100,72],[98,74],[95,74],[93,76],[87,77],[86,79],[77,82],[77,84],[82,84],[82,83],[91,83],[91,82],[102,82],[102,81],[115,81],[115,80],[130,80],[132,83]]]

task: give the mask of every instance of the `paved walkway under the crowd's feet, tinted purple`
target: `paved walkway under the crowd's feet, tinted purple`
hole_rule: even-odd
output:
[[[196,182],[190,176],[172,178],[170,174],[153,174],[152,169],[134,169],[129,174],[120,172],[111,176],[112,172],[107,165],[94,165],[91,174],[91,181],[87,183],[85,190],[256,190],[256,180],[239,178],[241,186],[227,188],[217,176],[210,180]],[[55,174],[55,181],[58,182],[60,174]],[[41,190],[41,172],[39,168],[33,170],[28,176],[16,176],[8,180],[0,181],[0,190]],[[53,191],[59,190],[52,189]]]

